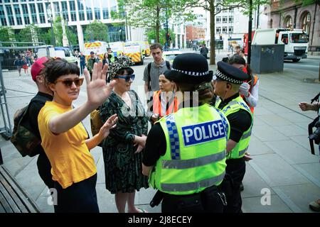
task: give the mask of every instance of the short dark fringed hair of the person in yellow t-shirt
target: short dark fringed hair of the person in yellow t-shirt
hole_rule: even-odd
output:
[[[80,69],[75,63],[70,63],[61,58],[50,58],[45,65],[44,75],[48,84],[54,83],[59,77],[68,74],[78,74],[80,76]]]

